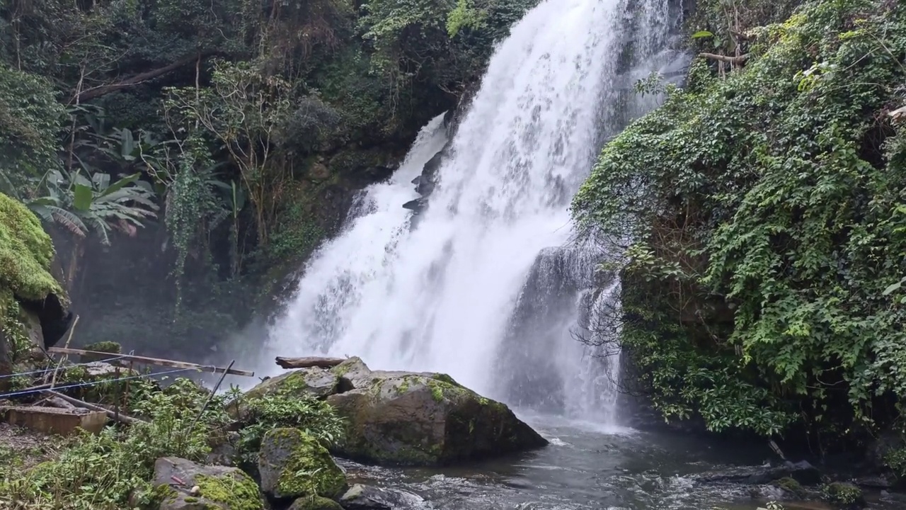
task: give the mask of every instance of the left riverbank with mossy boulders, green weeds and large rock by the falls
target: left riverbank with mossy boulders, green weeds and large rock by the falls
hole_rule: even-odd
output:
[[[33,371],[42,371],[37,365]],[[124,388],[118,371],[98,372],[105,365],[92,362],[103,373],[92,380],[83,378],[82,365],[63,365],[59,387],[71,388],[61,391],[82,404],[115,409],[115,420],[94,434],[54,439],[63,446],[40,458],[10,441],[0,507],[406,508],[419,496],[350,483],[333,455],[372,465],[450,466],[547,444],[504,404],[446,375],[371,370],[359,358],[224,395],[189,379],[138,378]],[[2,404],[34,409],[41,402],[31,395]]]

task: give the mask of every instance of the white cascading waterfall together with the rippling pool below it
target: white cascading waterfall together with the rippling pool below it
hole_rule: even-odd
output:
[[[573,242],[568,211],[603,142],[658,101],[631,84],[655,70],[682,74],[688,57],[669,50],[681,7],[537,5],[496,48],[453,132],[442,116],[425,126],[400,169],[361,191],[342,231],[303,268],[259,375],[275,375],[274,356],[319,354],[446,372],[551,440],[453,470],[350,465],[351,474],[450,510],[699,509],[745,498],[687,476],[761,464],[765,449],[620,427],[619,351],[600,313],[619,307],[620,282],[594,270],[616,254]],[[428,208],[414,216],[402,204],[419,198],[412,181],[439,153]]]

